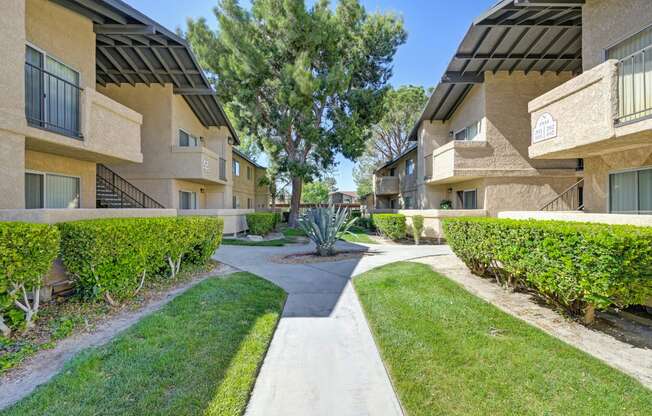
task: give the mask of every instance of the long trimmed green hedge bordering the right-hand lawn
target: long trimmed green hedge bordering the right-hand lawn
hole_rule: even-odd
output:
[[[534,288],[589,322],[595,309],[652,296],[651,227],[495,218],[449,218],[443,227],[474,273]]]

